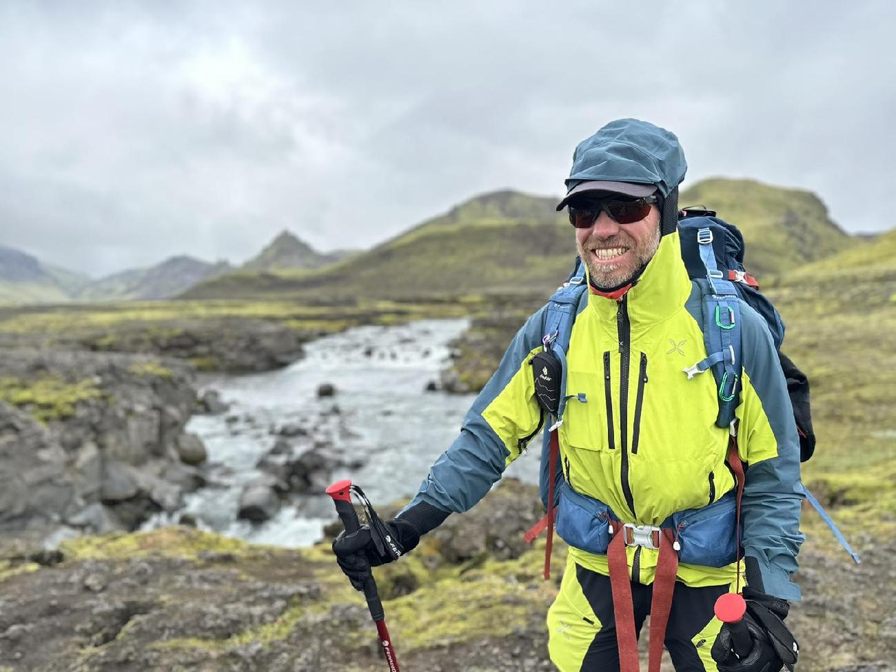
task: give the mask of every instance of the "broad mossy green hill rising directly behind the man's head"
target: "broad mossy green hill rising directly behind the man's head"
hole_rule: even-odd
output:
[[[569,271],[573,231],[555,198],[484,194],[366,253],[319,271],[241,272],[204,282],[186,298],[406,299],[492,292],[547,294]],[[683,194],[744,232],[747,266],[761,279],[857,244],[810,192],[752,180],[712,179]]]

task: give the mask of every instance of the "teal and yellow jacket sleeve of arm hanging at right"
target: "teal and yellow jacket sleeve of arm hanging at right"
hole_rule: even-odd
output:
[[[780,599],[800,599],[797,571],[805,497],[799,474],[799,438],[787,381],[771,333],[759,314],[741,305],[744,390],[738,441],[748,462],[742,504],[747,582]]]

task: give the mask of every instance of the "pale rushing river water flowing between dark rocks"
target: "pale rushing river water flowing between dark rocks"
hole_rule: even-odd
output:
[[[468,326],[455,319],[358,327],[307,343],[306,357],[279,371],[211,378],[205,387],[230,408],[219,416],[196,416],[187,426],[208,450],[210,486],[147,527],[189,514],[202,529],[258,543],[301,547],[322,538],[323,525],[335,520],[326,495],[291,500],[261,524],[237,519],[243,487],[260,475],[255,465],[278,438],[272,432],[285,425],[306,427],[309,434],[289,439],[294,453],[323,441],[349,461],[363,461],[335,470],[332,480],[351,478],[374,504],[414,495],[474,399],[426,392],[447,366],[448,342]],[[322,383],[334,385],[336,394],[318,398]],[[507,475],[537,482],[538,452],[523,455]]]

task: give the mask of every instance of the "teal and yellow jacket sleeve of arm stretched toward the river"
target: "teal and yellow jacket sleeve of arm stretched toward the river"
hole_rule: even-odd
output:
[[[530,316],[517,332],[510,347],[504,352],[495,374],[470,407],[460,435],[435,461],[418,494],[403,511],[420,502],[444,512],[467,511],[501,478],[508,458],[515,456],[512,452],[518,454],[520,446],[517,445],[517,440],[521,440],[524,432],[531,433],[535,429],[534,425],[538,424],[540,415],[534,395],[522,398],[516,387],[522,389],[521,383],[524,381],[520,380],[521,376],[528,375],[531,378],[529,367],[522,365],[528,362],[532,351],[541,346],[545,310],[542,307]],[[510,389],[512,386],[513,390]],[[492,409],[499,395],[510,397],[509,401],[504,398],[501,400],[504,406],[510,403],[515,407],[525,407],[519,409],[518,413],[505,415],[518,415],[520,418],[527,418],[526,422],[519,419],[496,422]],[[484,414],[491,418],[491,422]],[[528,422],[533,426],[522,426]],[[495,426],[499,427],[502,435],[495,431]]]

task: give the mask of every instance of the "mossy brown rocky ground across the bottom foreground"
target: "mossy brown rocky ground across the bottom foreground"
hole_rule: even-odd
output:
[[[544,582],[543,539],[534,548],[519,543],[538,510],[536,489],[507,479],[409,556],[376,570],[402,668],[552,669],[544,616],[565,549],[556,544]],[[802,643],[799,669],[892,670],[892,537],[855,539],[859,567],[812,539],[798,576],[806,601],[788,618]],[[477,547],[460,552],[461,541]],[[383,668],[363,599],[329,543],[276,549],[188,528],[80,538],[55,554],[4,550],[0,540],[0,596],[4,672]],[[663,670],[671,671],[668,660]]]

